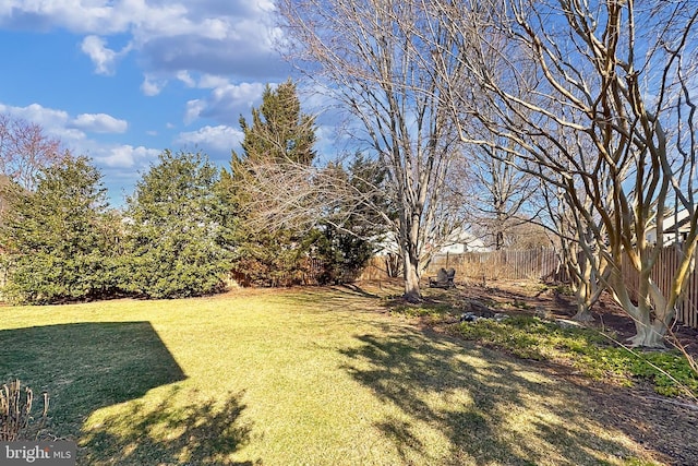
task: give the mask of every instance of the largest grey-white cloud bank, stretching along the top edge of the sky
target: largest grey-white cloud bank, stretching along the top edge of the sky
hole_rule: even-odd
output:
[[[85,35],[82,50],[100,74],[112,74],[120,57],[136,53],[145,73],[181,71],[239,79],[285,76],[288,68],[274,50],[279,36],[272,1],[236,0],[5,0],[0,27],[67,29]],[[128,46],[107,47],[119,35]]]

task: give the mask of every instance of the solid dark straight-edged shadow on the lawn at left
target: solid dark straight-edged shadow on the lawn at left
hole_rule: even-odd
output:
[[[49,393],[50,432],[74,439],[96,409],[185,375],[149,322],[100,322],[0,331],[0,381],[14,378]]]

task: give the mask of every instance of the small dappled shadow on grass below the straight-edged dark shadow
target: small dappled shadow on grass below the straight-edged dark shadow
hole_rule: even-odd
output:
[[[214,401],[202,399],[195,391],[178,392],[173,387],[155,406],[132,402],[87,426],[79,464],[256,464],[229,458],[250,439],[251,426],[240,420],[245,408],[240,403],[242,394]]]

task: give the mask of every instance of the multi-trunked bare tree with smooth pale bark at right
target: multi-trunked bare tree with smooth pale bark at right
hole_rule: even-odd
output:
[[[462,139],[514,153],[519,166],[544,167],[539,174],[573,207],[578,237],[588,234],[589,247],[607,262],[610,289],[636,323],[633,344],[661,346],[694,268],[697,242],[695,2],[430,5],[433,21],[460,41],[441,52],[462,58],[468,84],[496,109],[479,112],[462,85],[452,87],[455,111],[479,119],[495,135],[483,140],[462,131]],[[581,143],[567,144],[569,134]],[[501,140],[516,141],[517,148]],[[683,259],[672,284],[661,290],[652,272],[660,265],[662,219],[673,198],[688,213],[689,231],[676,246]],[[649,229],[657,232],[657,248],[646,239]],[[624,266],[639,274],[637,290],[626,285]]]

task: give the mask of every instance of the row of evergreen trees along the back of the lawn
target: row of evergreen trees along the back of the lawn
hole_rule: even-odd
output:
[[[375,218],[345,215],[337,204],[310,228],[260,224],[256,167],[273,165],[281,175],[288,162],[315,162],[314,120],[301,112],[296,84],[267,86],[251,124],[241,118],[240,126],[242,153],[232,153],[229,169],[201,153],[166,150],[122,210],[109,206],[88,158],[56,156],[57,143],[38,131],[46,156],[32,157],[31,175],[4,170],[1,183],[3,297],[50,303],[198,296],[222,289],[231,273],[250,284],[289,285],[310,272],[311,259],[322,264],[324,283],[360,270],[383,231]],[[384,180],[383,170],[360,155],[322,169],[358,192]]]

